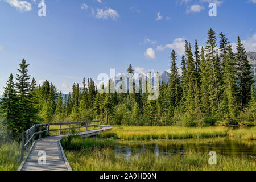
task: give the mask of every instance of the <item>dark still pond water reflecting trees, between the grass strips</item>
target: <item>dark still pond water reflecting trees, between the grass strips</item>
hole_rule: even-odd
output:
[[[216,151],[217,154],[239,155],[256,157],[256,142],[241,142],[241,140],[229,139],[200,139],[200,140],[170,140],[152,142],[120,142],[114,147],[115,155],[130,159],[132,155],[142,152],[154,152],[156,156],[171,154],[186,154],[193,151],[208,154]]]

